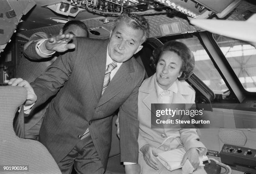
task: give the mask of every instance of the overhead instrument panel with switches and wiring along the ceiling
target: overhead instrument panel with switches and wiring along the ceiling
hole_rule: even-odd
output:
[[[44,5],[56,13],[75,17],[88,10],[101,15],[120,15],[146,10],[175,10],[191,18],[225,17],[241,0],[61,0]]]

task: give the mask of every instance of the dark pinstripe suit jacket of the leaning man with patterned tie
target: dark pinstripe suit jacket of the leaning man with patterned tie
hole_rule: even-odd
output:
[[[119,108],[121,161],[138,162],[138,88],[145,71],[131,58],[124,62],[102,93],[108,40],[74,38],[76,48],[49,66],[31,83],[37,101],[51,101],[43,124],[41,141],[56,162],[77,144],[89,127],[92,141],[106,166],[111,142],[112,114]]]

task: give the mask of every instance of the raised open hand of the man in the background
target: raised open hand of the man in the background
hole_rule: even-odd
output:
[[[62,35],[57,35],[49,38],[46,40],[45,43],[45,48],[48,51],[57,51],[57,52],[65,52],[69,49],[75,48],[74,43],[69,43],[70,40],[72,40],[73,35],[71,34],[62,34]],[[44,44],[42,44],[43,48],[41,50],[44,52]],[[44,52],[45,53],[45,52]]]

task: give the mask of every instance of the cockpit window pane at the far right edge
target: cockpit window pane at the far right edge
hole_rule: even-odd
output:
[[[256,48],[255,46],[213,34],[220,50],[233,68],[243,88],[249,92],[256,92]]]

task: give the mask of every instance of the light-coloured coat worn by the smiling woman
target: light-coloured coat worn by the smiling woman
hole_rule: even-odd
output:
[[[199,141],[196,129],[151,129],[151,103],[158,103],[155,78],[156,74],[147,78],[139,88],[139,149],[145,144],[150,144],[157,148],[169,136],[177,137],[177,139],[170,138],[159,149],[164,151],[176,149],[180,144],[183,144],[187,150],[192,147],[205,148],[202,142]],[[172,103],[195,103],[195,91],[187,83],[178,80],[176,83],[178,91],[173,94]]]

